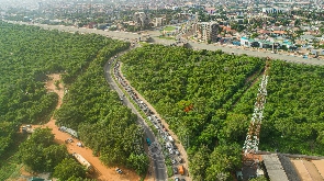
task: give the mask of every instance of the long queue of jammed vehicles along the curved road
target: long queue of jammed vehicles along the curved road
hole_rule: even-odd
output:
[[[115,76],[115,79],[125,89],[125,91],[129,93],[131,99],[147,115],[147,118],[153,123],[154,127],[157,129],[160,137],[163,138],[163,140],[164,140],[163,145],[166,150],[164,152],[171,160],[174,174],[182,174],[183,176],[185,174],[183,166],[180,166],[180,163],[182,163],[182,158],[180,157],[180,152],[179,152],[177,146],[175,145],[175,140],[174,140],[172,136],[169,134],[168,129],[161,124],[160,118],[154,114],[154,112],[143,102],[143,100],[141,100],[138,98],[138,95],[133,91],[133,89],[123,79],[123,77],[120,73],[120,63],[119,61],[116,61],[114,65],[113,73]],[[122,97],[120,97],[121,101],[123,101],[123,99],[124,99],[124,94]],[[147,144],[149,146],[150,142],[147,142]]]

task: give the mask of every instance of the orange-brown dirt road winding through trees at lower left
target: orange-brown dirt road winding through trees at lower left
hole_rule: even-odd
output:
[[[62,105],[62,100],[64,97],[64,88],[62,84],[59,84],[59,89],[57,89],[54,84],[56,80],[59,80],[59,75],[49,75],[52,80],[48,80],[46,82],[46,89],[47,91],[54,91],[58,94],[58,103],[56,109],[59,109]],[[51,117],[51,121],[45,125],[34,126],[34,127],[49,127],[52,128],[52,133],[55,135],[55,142],[58,144],[65,144],[65,140],[67,138],[70,138],[70,135],[67,133],[63,133],[58,131],[58,127],[55,125],[55,120],[53,116]],[[68,152],[78,152],[82,157],[85,157],[93,167],[96,170],[96,173],[93,173],[92,178],[98,181],[138,181],[139,177],[131,170],[121,168],[123,170],[123,174],[116,173],[114,170],[115,168],[108,168],[101,163],[99,160],[99,157],[94,157],[92,155],[92,150],[87,147],[78,147],[76,144],[80,142],[78,139],[74,138],[74,143],[65,144],[67,146]]]

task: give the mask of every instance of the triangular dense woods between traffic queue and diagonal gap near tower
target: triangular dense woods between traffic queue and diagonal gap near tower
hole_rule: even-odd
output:
[[[258,58],[158,45],[137,48],[123,61],[131,83],[180,137],[190,135],[192,145],[215,144],[222,112],[226,116],[249,77],[264,67]],[[193,110],[186,112],[188,104]]]

